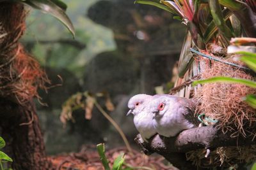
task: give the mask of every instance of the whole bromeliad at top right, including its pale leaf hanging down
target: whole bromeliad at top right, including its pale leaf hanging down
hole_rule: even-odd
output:
[[[194,60],[189,48],[206,50],[211,43],[227,48],[230,39],[241,37],[243,31],[243,36],[256,37],[254,0],[136,0],[135,3],[166,10],[188,28],[180,53],[180,78]]]

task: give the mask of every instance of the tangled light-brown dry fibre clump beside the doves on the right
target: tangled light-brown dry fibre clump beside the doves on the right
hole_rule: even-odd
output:
[[[232,56],[226,61],[234,63]],[[212,62],[212,66],[205,64],[201,78],[214,76],[255,80],[239,67],[229,66],[223,62]],[[232,136],[254,134],[255,132],[249,132],[244,128],[253,127],[256,122],[256,110],[243,101],[247,94],[256,94],[256,89],[234,83],[207,83],[202,85],[196,94],[200,102],[196,113],[204,113],[206,117],[218,120],[217,125],[223,132],[234,131]]]

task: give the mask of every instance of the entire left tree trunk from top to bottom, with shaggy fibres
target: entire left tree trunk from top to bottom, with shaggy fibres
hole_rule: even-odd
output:
[[[25,17],[22,4],[0,3],[1,136],[6,141],[6,153],[13,159],[13,169],[51,169],[33,104],[40,79],[31,68],[38,65],[18,43],[25,30]]]

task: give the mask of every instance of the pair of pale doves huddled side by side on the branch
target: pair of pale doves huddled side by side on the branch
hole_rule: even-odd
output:
[[[184,97],[137,94],[129,100],[128,108],[127,115],[134,115],[134,125],[146,142],[156,133],[171,137],[198,125],[195,103]]]

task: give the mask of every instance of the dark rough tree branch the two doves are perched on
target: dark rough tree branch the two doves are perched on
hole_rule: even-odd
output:
[[[223,134],[214,126],[197,127],[180,132],[178,136],[166,138],[156,134],[145,143],[140,134],[135,138],[136,143],[146,155],[159,153],[179,169],[193,169],[191,162],[186,161],[185,153],[198,149],[214,149],[221,146],[255,145],[253,136],[231,138],[234,132]],[[194,167],[195,168],[195,167]]]

